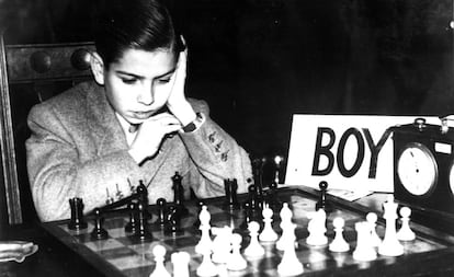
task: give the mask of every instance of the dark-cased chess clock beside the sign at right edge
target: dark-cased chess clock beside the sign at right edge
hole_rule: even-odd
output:
[[[421,223],[454,233],[454,128],[416,118],[393,127],[394,195]]]

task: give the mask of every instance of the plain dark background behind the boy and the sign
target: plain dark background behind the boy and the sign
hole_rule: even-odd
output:
[[[2,0],[7,44],[90,41],[90,0]],[[188,94],[250,153],[286,154],[292,115],[445,115],[450,0],[169,0]]]

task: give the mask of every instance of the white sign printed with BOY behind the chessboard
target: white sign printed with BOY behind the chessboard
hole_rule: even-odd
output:
[[[421,116],[294,115],[286,185],[347,191],[394,191],[389,127]],[[438,117],[423,117],[440,124]]]

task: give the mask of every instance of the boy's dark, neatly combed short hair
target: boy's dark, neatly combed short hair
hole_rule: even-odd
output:
[[[126,49],[180,51],[181,38],[159,0],[99,0],[94,12],[97,51],[109,67]]]

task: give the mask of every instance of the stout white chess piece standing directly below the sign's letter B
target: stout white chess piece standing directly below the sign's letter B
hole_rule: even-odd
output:
[[[328,243],[328,238],[325,234],[327,231],[326,211],[324,209],[318,209],[317,211],[309,212],[308,217],[310,219],[307,227],[309,236],[307,236],[306,243],[313,246],[326,245]]]

